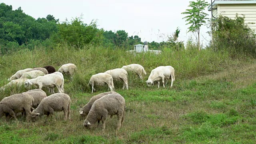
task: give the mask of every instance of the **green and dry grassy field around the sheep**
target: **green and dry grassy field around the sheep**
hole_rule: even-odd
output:
[[[65,93],[71,97],[71,120],[63,120],[63,112],[55,112],[38,122],[5,121],[0,118],[0,143],[255,143],[256,142],[256,61],[241,56],[231,59],[226,52],[210,50],[170,52],[156,56],[133,56],[123,50],[85,48],[74,50],[59,46],[53,50],[38,48],[21,50],[0,57],[0,86],[17,70],[74,63],[78,72],[65,78]],[[79,110],[90,98],[106,87],[96,87],[91,94],[87,87],[92,74],[141,64],[148,73],[140,80],[128,73],[129,90],[114,82],[116,92],[126,100],[124,124],[116,131],[117,117],[108,118],[106,130],[86,130]],[[157,66],[171,65],[175,81],[170,88],[147,87],[150,71]],[[26,91],[9,88],[0,91],[0,100]],[[48,94],[49,95],[49,94]]]

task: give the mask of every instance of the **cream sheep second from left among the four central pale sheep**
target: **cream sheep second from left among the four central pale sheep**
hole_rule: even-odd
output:
[[[122,68],[116,68],[113,70],[107,70],[104,72],[106,74],[110,74],[115,81],[123,81],[123,90],[126,87],[128,90],[128,80],[127,80],[127,72]]]

